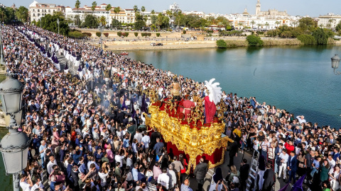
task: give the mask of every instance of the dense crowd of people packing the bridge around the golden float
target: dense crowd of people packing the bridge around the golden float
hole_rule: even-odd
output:
[[[4,26],[2,40],[7,72],[25,86],[19,130],[33,139],[20,180],[24,191],[47,190],[43,172],[50,190],[191,191],[186,171],[202,190],[205,160],[189,170],[185,154],[168,154],[161,134],[146,129],[144,113],[151,104],[148,89],[156,90],[160,100],[170,98],[177,78],[182,95],[193,100],[207,94],[204,83],[35,26]],[[58,69],[48,56],[52,51],[80,59],[77,74]],[[239,170],[233,161],[239,148],[261,155],[258,190],[271,189],[271,169],[291,183],[306,175],[307,185],[339,189],[341,130],[306,122],[254,97],[223,91],[222,101],[227,105],[224,133],[234,140],[232,172],[222,178],[217,168],[210,190],[245,189],[248,161]]]

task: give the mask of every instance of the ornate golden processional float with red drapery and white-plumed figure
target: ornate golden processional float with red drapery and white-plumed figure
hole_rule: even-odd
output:
[[[212,85],[212,81],[214,79],[210,82],[205,81],[205,86]],[[207,89],[210,91],[209,94],[215,91],[214,88],[212,90],[207,87]],[[214,110],[213,115],[217,113],[217,117],[212,116],[211,122],[207,122],[207,116],[204,114],[206,113],[205,107],[202,104],[204,99],[200,96],[194,95],[192,102],[186,99],[174,101],[171,98],[158,100],[156,91],[149,91],[148,94],[151,105],[148,107],[150,115],[146,115],[146,125],[148,129],[156,128],[162,134],[168,153],[176,156],[186,155],[189,159],[187,173],[189,173],[190,166],[195,169],[201,157],[207,161],[209,168],[224,163],[224,148],[233,141],[223,134],[225,125],[222,118],[226,105],[220,101],[221,91],[218,96],[219,100],[215,102],[219,104],[214,105],[217,111]],[[210,102],[208,97],[205,97],[205,105]]]

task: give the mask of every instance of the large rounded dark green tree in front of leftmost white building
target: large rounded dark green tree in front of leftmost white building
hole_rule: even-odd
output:
[[[58,33],[58,24],[57,20],[59,18],[59,29],[61,35],[68,35],[70,28],[65,21],[63,16],[59,16],[58,14],[47,14],[41,18],[41,27],[45,30],[50,30],[53,33]],[[40,26],[40,21],[37,22],[37,25]]]

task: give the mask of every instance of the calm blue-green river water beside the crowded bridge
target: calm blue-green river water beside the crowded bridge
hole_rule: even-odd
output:
[[[227,50],[136,50],[129,57],[222,90],[276,105],[309,122],[341,127],[341,76],[330,58],[341,46],[237,47]]]

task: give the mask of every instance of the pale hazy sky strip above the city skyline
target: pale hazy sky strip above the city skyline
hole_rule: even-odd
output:
[[[36,0],[39,3],[58,4],[63,6],[75,7],[75,0]],[[80,6],[91,6],[94,0],[80,0]],[[28,7],[33,0],[10,0],[1,2],[5,6]],[[111,4],[112,6],[120,6],[121,8],[133,8],[137,5],[146,7],[146,11],[152,9],[156,12],[167,10],[171,4],[176,2],[183,11],[204,11],[205,13],[242,13],[244,8],[250,14],[255,13],[257,0],[97,0],[99,4]],[[341,15],[340,0],[261,0],[261,11],[267,11],[269,8],[276,8],[278,11],[287,11],[291,16],[312,16],[317,17],[327,13],[335,13]]]

